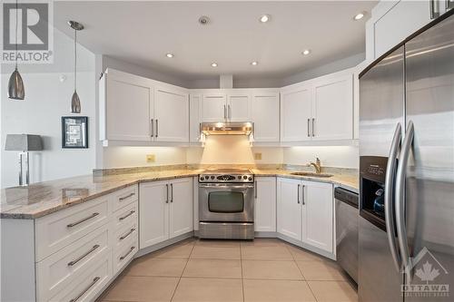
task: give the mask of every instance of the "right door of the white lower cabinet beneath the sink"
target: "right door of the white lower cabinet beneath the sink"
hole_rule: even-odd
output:
[[[303,181],[302,185],[302,241],[332,253],[332,185],[312,181]]]

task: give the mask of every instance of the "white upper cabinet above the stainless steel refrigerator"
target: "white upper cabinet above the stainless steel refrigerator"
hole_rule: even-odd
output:
[[[367,59],[379,58],[452,7],[452,0],[381,1],[366,25]]]

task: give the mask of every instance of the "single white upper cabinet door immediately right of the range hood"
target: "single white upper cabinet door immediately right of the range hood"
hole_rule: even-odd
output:
[[[279,141],[279,93],[252,94],[255,141]]]

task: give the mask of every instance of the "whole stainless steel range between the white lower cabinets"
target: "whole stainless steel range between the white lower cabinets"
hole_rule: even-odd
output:
[[[199,175],[199,237],[253,239],[254,177],[250,170],[205,170]]]

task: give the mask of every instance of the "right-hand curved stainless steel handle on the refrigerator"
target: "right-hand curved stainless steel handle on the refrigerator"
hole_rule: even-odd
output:
[[[407,239],[407,229],[405,228],[405,176],[409,161],[411,144],[414,137],[413,122],[409,122],[408,129],[403,140],[402,150],[400,151],[400,161],[396,172],[396,225],[400,247],[400,258],[405,269],[410,268],[409,242]]]

